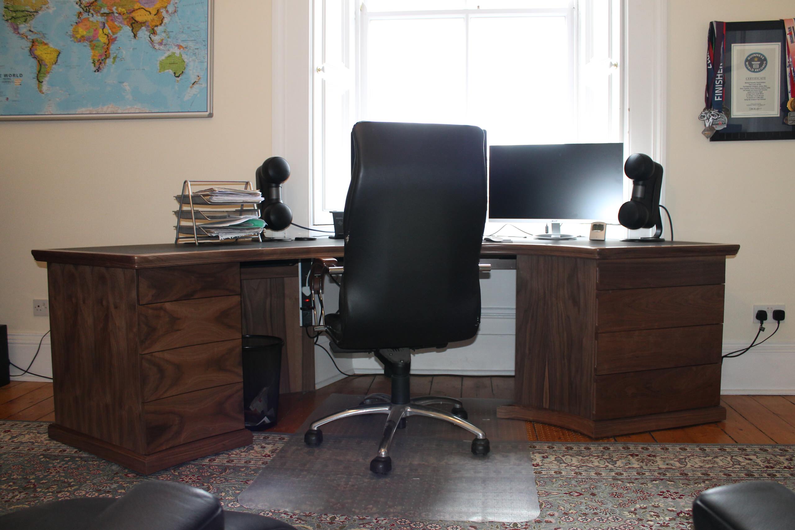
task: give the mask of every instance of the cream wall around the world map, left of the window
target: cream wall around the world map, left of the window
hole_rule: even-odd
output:
[[[31,249],[172,242],[184,179],[254,179],[271,156],[271,2],[230,7],[215,3],[212,118],[0,123],[0,324],[16,364],[49,327],[33,317],[47,273]],[[32,369],[49,364],[45,339]]]

